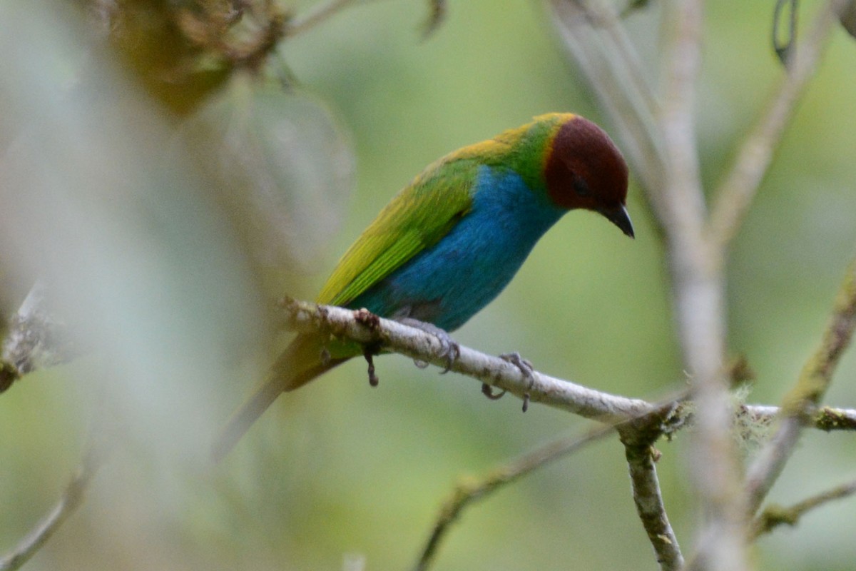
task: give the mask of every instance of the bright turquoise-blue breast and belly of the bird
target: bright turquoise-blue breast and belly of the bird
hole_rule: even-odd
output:
[[[519,175],[481,167],[467,216],[348,305],[448,331],[461,327],[508,285],[538,238],[562,217],[564,210],[540,198]]]

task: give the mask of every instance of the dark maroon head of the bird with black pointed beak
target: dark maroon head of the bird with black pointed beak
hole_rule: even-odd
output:
[[[550,199],[568,210],[585,208],[606,217],[633,238],[627,214],[627,164],[602,128],[580,116],[560,123],[544,164]]]

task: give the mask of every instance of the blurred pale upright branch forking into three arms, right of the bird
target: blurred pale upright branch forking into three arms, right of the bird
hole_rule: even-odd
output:
[[[746,408],[732,410],[727,379],[722,375],[728,243],[739,231],[794,106],[817,69],[842,5],[841,0],[825,3],[808,39],[788,58],[787,74],[774,89],[770,105],[759,112],[757,126],[737,152],[709,214],[695,134],[703,2],[663,4],[664,28],[668,30],[663,38],[663,95],[651,101],[645,81],[639,82],[639,71],[628,71],[639,62],[635,49],[615,41],[627,37],[619,18],[595,0],[550,0],[567,54],[615,125],[663,233],[675,329],[693,380],[697,404],[694,420],[699,428],[693,435],[696,443],[691,447],[690,466],[704,523],[697,555],[688,568],[749,567],[744,504],[752,506],[751,513],[757,508],[764,488],[772,484],[787,461],[789,454],[782,451],[791,449],[803,423],[817,419],[817,399],[803,398],[799,421],[794,417],[793,423],[783,425],[776,436],[782,444],[771,444],[764,454],[765,467],[756,466],[750,472],[750,499],[746,499],[739,455],[731,437],[734,413],[740,416]],[[598,26],[608,28],[609,33],[599,32]],[[774,449],[779,452],[772,452]]]

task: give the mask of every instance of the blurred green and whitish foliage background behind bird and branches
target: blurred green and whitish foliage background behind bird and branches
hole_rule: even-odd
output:
[[[265,21],[318,4],[259,3],[224,46],[234,14],[217,3],[0,0],[0,306],[15,312],[39,277],[86,348],[0,396],[0,553],[56,502],[92,431],[109,460],[27,569],[410,568],[456,481],[585,429],[390,355],[377,389],[353,360],[208,460],[287,342],[272,300],[312,299],[426,164],[548,111],[610,130],[542,3],[446,4],[426,39],[427,3],[377,0],[269,51]],[[657,86],[653,4],[626,23]],[[772,5],[707,4],[706,187],[783,73]],[[802,10],[807,29],[814,6]],[[854,70],[839,29],[735,241],[729,350],[757,374],[752,402],[775,404],[794,382],[854,253]],[[633,186],[628,209],[635,241],[584,212],[563,218],[455,339],[625,396],[681,388],[663,249]],[[851,352],[830,404],[856,407],[854,374]],[[687,440],[661,443],[659,462],[685,551],[698,523]],[[557,461],[465,512],[436,568],[656,569],[626,471],[617,438]],[[853,473],[852,434],[810,431],[770,500]],[[852,569],[854,526],[856,500],[812,512],[758,542],[759,568]]]

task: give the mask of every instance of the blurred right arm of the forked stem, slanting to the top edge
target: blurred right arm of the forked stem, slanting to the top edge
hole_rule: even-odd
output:
[[[805,93],[805,86],[817,71],[818,62],[835,24],[840,2],[830,2],[821,9],[811,33],[797,45],[795,57],[790,57],[787,74],[764,105],[766,113],[746,137],[734,166],[716,192],[710,212],[708,233],[720,257],[740,229],[740,223],[752,204],[773,155],[782,141],[782,134],[794,116],[794,108]]]

